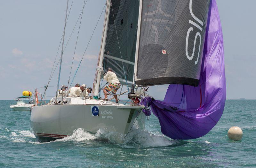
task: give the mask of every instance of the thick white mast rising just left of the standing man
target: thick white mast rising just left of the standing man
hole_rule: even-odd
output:
[[[98,67],[102,66],[102,64],[103,64],[104,49],[105,49],[107,30],[108,30],[108,19],[109,19],[110,5],[111,5],[111,0],[107,0],[106,12],[105,12],[105,23],[104,23],[104,28],[103,28],[103,37],[102,37],[102,41],[101,41],[99,62],[98,62],[98,66],[96,69],[96,76],[95,76],[96,83],[95,83],[95,86],[93,87],[93,91],[92,91],[94,96],[99,95],[101,72],[98,71]]]

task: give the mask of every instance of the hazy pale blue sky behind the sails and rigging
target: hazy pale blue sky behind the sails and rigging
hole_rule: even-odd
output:
[[[72,0],[69,0],[69,7]],[[76,52],[79,22],[68,38],[83,8],[83,0],[74,0],[64,40],[60,85],[67,85],[72,59],[71,79],[92,35],[73,84],[92,87],[103,29],[104,0],[88,0],[82,17]],[[227,99],[256,99],[256,18],[255,0],[217,0],[222,24],[225,53]],[[11,100],[23,90],[34,91],[47,85],[64,28],[64,0],[0,0],[0,100]],[[67,43],[68,42],[68,43]],[[61,47],[60,47],[61,50]],[[57,61],[60,52],[57,55]],[[56,65],[56,63],[55,63]],[[59,67],[49,86],[56,86]],[[153,86],[149,94],[163,99],[168,85]],[[46,99],[56,92],[49,87]]]

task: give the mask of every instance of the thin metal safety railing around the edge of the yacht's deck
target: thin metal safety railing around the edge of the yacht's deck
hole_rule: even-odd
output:
[[[57,98],[60,98],[60,96],[57,96],[57,97],[55,95],[54,96],[47,96],[47,94],[46,94],[46,91],[47,91],[47,93],[51,92],[52,94],[54,94],[56,92],[55,91],[56,87],[57,86],[48,86],[48,88],[46,88],[46,89],[45,89],[45,87],[36,88],[35,95],[34,95],[34,100],[33,100],[34,105],[37,106],[37,105],[46,105],[46,104],[59,104],[58,103],[59,101],[57,102]],[[118,89],[117,93],[116,94],[111,94],[112,91],[115,90],[116,88]],[[104,88],[102,88],[101,90],[103,91]],[[65,92],[67,92],[67,91],[68,90],[66,90]],[[131,92],[133,92],[133,93],[131,94]],[[99,96],[99,99],[101,100],[101,97],[104,98],[104,94],[102,92],[100,92],[100,93],[101,94]],[[108,91],[107,93],[108,94],[107,94],[106,99],[108,99],[108,101],[111,101],[111,100],[115,99],[114,95],[116,95],[117,100],[118,100],[118,104],[122,103],[124,105],[126,105],[127,103],[130,103],[131,105],[139,105],[138,100],[143,99],[147,95],[145,93],[145,87],[143,87],[141,85],[120,85],[120,86],[116,86],[115,88],[113,88],[111,91]],[[41,100],[38,99],[39,98],[38,95],[41,95]],[[44,96],[42,97],[42,95],[44,95]],[[84,93],[84,95],[85,95],[85,93]],[[51,97],[51,100],[50,100],[49,103],[46,103],[46,98],[45,97]],[[61,94],[61,104],[63,104],[66,101],[67,97],[68,97],[68,95]],[[93,99],[92,95],[88,96],[88,97],[84,96],[83,98],[84,98],[84,104],[86,104],[86,99],[87,100],[88,99]],[[100,104],[105,103],[106,99],[101,101],[102,103],[100,103]],[[60,100],[60,99],[58,99],[58,100]],[[136,102],[136,100],[137,100],[137,102]]]

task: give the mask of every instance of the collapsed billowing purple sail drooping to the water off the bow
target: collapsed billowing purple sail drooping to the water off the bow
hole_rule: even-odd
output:
[[[170,85],[164,101],[147,98],[161,131],[172,139],[195,139],[219,121],[225,105],[223,37],[216,0],[211,0],[199,86]]]

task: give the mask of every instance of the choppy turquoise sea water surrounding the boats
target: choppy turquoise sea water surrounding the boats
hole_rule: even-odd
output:
[[[256,167],[256,100],[227,100],[218,124],[196,140],[163,136],[152,115],[145,131],[123,141],[78,129],[48,143],[36,141],[30,112],[12,111],[10,103],[15,101],[0,100],[0,167]],[[242,141],[228,139],[231,126],[243,129]]]

